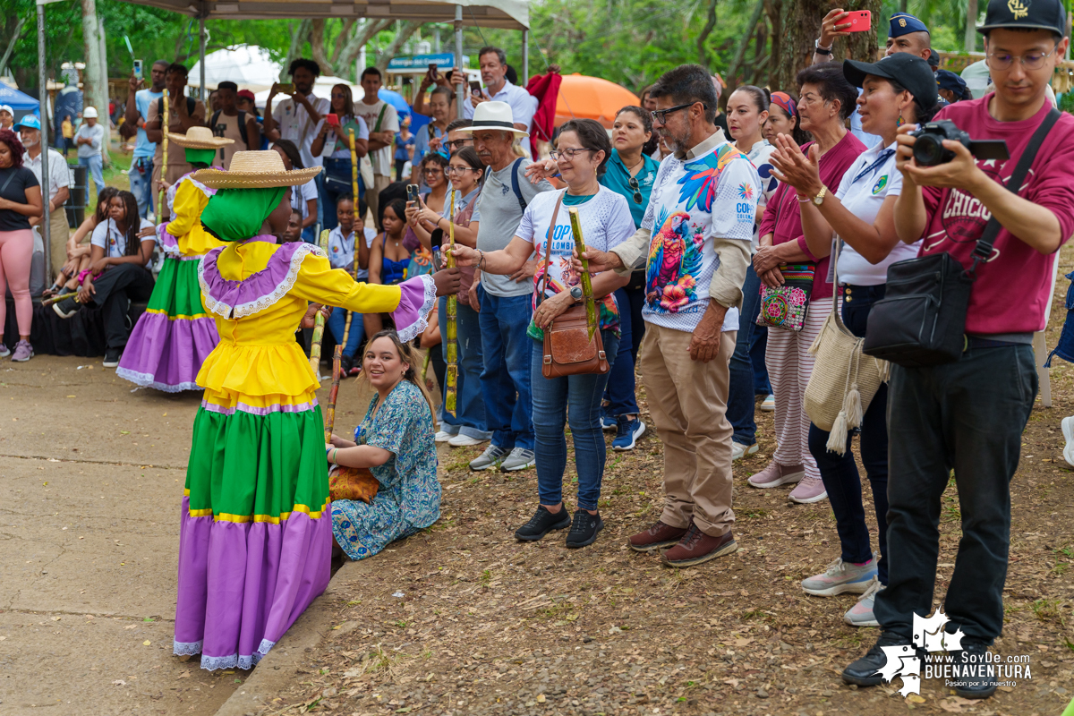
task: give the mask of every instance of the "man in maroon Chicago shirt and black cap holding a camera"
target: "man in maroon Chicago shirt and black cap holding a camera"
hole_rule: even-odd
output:
[[[1069,40],[1059,0],[990,0],[985,53],[996,92],[953,104],[949,119],[974,140],[1005,140],[1006,161],[975,160],[956,142],[955,158],[938,166],[913,161],[913,129],[899,134],[902,193],[896,203],[899,238],[925,238],[921,252],[946,251],[973,264],[988,220],[1001,230],[991,258],[977,264],[966,321],[966,350],[955,363],[924,368],[891,366],[888,392],[890,473],[887,544],[889,581],[873,613],[883,629],[876,645],[843,671],[843,681],[870,686],[887,662],[884,646],[914,643],[914,615],[932,612],[940,497],[955,470],[962,514],[955,571],[944,600],[960,629],[958,663],[987,663],[986,652],[1003,627],[1003,583],[1011,532],[1008,484],[1018,467],[1021,433],[1036,395],[1031,348],[1044,327],[1055,253],[1074,233],[1074,117],[1063,114],[1036,154],[1015,194],[1005,182],[1030,137],[1051,111],[1045,87]],[[948,651],[958,638],[948,635]],[[955,683],[963,698],[984,699],[995,675],[966,674]]]

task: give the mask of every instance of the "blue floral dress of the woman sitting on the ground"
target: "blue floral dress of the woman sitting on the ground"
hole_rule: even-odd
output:
[[[374,415],[379,397],[369,401],[354,441],[392,453],[387,463],[369,468],[380,488],[373,502],[332,502],[332,532],[351,559],[372,557],[440,518],[433,413],[425,397],[413,383],[401,381]]]

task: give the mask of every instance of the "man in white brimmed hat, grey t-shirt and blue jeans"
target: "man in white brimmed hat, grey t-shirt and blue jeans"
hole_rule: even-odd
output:
[[[514,156],[516,137],[529,136],[518,129],[506,102],[482,102],[474,109],[474,120],[460,132],[474,135],[474,148],[489,167],[484,188],[478,196],[471,221],[479,221],[477,248],[496,251],[506,248],[518,231],[526,205],[552,185],[541,179],[532,184],[524,174],[527,160]],[[518,274],[474,277],[481,310],[481,394],[487,428],[492,443],[470,469],[496,467],[512,471],[535,464],[533,393],[529,361],[533,339],[526,336],[532,312],[531,294],[536,262],[529,261]]]

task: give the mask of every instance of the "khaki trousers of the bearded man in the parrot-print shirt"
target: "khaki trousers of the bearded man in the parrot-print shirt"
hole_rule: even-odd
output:
[[[638,357],[649,412],[664,443],[664,513],[661,522],[706,535],[731,528],[731,436],[727,421],[728,363],[737,331],[723,333],[708,363],[690,357],[692,333],[645,322]]]

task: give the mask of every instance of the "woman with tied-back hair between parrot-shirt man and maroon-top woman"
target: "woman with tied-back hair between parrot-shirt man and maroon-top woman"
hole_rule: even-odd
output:
[[[753,229],[752,252],[757,252],[760,217],[765,215],[768,199],[775,193],[780,182],[772,176],[769,156],[775,147],[763,136],[768,121],[768,92],[760,87],[744,85],[727,98],[727,130],[735,147],[745,154],[757,169],[760,194],[757,198],[757,221]],[[751,263],[742,283],[742,310],[739,313],[739,332],[735,353],[730,361],[730,390],[727,393],[727,420],[735,430],[731,438],[731,459],[757,452],[757,423],[754,420],[754,363],[751,349],[754,340],[763,340],[767,330],[757,325],[760,310],[760,279]],[[761,352],[764,357],[764,352]],[[763,383],[767,383],[767,372]],[[772,399],[774,404],[774,398]],[[764,407],[764,406],[763,406]]]

